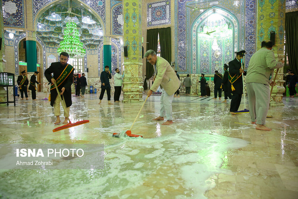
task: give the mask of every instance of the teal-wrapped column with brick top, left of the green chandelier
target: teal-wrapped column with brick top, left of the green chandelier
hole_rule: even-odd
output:
[[[26,31],[26,58],[27,72],[36,71],[36,31]]]

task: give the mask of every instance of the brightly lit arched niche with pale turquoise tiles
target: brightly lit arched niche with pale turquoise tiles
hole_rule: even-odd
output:
[[[210,9],[198,16],[191,28],[192,56],[189,56],[188,63],[192,67],[191,71],[196,74],[213,74],[215,70],[223,73],[222,66],[234,58],[234,52],[239,46],[237,18],[226,10],[214,8],[216,11]],[[227,30],[221,30],[221,27],[215,26],[216,21],[218,24],[226,26]],[[211,28],[212,26],[214,28]],[[204,34],[213,30],[216,32],[211,33],[210,36]],[[218,35],[218,32],[221,32],[221,36],[216,37],[215,40],[214,36]],[[231,35],[226,36],[226,33]],[[218,50],[216,50],[216,46],[218,46]]]

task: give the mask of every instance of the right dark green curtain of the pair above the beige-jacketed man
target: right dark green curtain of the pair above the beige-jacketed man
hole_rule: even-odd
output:
[[[158,32],[161,57],[167,60],[170,64],[172,61],[171,27],[159,28]]]

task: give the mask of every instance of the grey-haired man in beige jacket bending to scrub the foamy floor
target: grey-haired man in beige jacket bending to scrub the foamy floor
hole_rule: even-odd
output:
[[[154,83],[148,91],[148,97],[150,97],[153,91],[157,90],[159,85],[162,89],[160,114],[159,117],[153,120],[164,120],[164,117],[166,117],[167,121],[162,125],[173,124],[172,101],[174,93],[180,86],[180,81],[169,62],[162,57],[156,56],[153,50],[148,50],[144,57],[147,58],[147,61],[152,64],[153,67],[156,65],[156,74],[153,78]]]

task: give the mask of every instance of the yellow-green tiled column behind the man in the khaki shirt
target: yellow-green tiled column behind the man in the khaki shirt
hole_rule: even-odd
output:
[[[263,40],[270,40],[270,32],[275,31],[275,44],[272,48],[276,60],[284,58],[284,30],[285,30],[285,0],[260,0],[257,7],[257,50],[261,48]],[[277,69],[274,70],[274,75]],[[283,104],[283,67],[279,69],[277,86],[273,87],[270,106],[284,106]],[[271,89],[271,87],[270,87]]]

